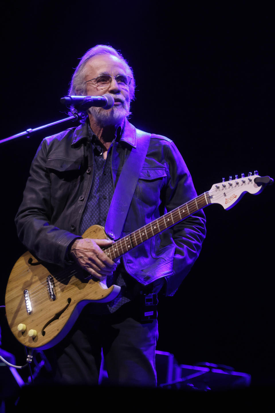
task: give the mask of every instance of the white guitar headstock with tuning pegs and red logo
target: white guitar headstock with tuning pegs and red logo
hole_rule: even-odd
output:
[[[273,181],[269,176],[261,177],[258,171],[254,171],[254,175],[249,172],[248,176],[238,178],[235,175],[235,179],[232,176],[229,177],[228,181],[216,183],[212,186],[211,190],[208,192],[208,201],[211,204],[220,204],[224,209],[230,209],[237,204],[238,201],[243,197],[246,192],[256,195],[262,192],[266,183]]]

